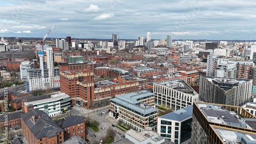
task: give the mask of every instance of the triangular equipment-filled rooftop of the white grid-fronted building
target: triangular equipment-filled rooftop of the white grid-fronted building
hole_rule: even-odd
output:
[[[191,92],[191,93],[196,93],[197,92],[191,88],[185,81],[181,80],[181,79],[175,79],[175,80],[169,80],[169,81],[163,81],[163,82],[158,82],[156,84],[168,87],[168,88],[172,88],[184,93],[187,92]]]

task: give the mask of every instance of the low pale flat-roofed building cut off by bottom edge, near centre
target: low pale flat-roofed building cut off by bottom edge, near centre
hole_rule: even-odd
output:
[[[133,129],[125,132],[125,138],[129,139],[136,144],[161,144],[165,143],[165,139],[162,136],[159,136],[156,132],[151,130],[136,132]]]

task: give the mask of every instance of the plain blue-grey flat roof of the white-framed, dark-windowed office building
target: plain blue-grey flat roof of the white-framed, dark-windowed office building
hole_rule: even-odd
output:
[[[174,112],[159,116],[159,118],[170,119],[174,121],[183,121],[187,118],[192,117],[193,106],[188,106],[183,109],[176,110]]]

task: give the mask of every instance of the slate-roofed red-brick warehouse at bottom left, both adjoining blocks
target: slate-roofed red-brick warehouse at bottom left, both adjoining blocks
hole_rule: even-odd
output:
[[[86,139],[86,118],[70,115],[54,122],[44,111],[21,115],[23,135],[28,143],[63,143],[73,136]]]

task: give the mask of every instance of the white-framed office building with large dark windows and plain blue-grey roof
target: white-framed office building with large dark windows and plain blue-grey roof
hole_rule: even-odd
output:
[[[173,143],[188,143],[191,136],[193,106],[159,116],[157,133]]]

